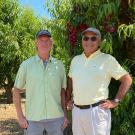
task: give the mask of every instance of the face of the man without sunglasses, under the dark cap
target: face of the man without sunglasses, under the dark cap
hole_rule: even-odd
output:
[[[48,53],[52,47],[52,39],[48,36],[42,35],[36,39],[37,51],[40,53]]]

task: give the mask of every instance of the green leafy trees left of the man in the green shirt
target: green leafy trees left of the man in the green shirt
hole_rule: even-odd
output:
[[[11,89],[20,63],[35,52],[35,33],[42,21],[18,0],[0,0],[0,89],[12,102]],[[2,99],[1,99],[2,100]]]

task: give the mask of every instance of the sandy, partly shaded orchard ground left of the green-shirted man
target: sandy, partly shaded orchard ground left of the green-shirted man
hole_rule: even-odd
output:
[[[0,104],[0,135],[23,135],[13,104]]]

